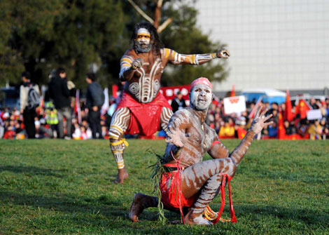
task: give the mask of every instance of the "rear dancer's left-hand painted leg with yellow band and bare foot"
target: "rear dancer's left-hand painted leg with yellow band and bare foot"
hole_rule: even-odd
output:
[[[122,184],[125,179],[128,177],[127,170],[125,168],[125,162],[123,161],[123,154],[125,150],[125,145],[127,142],[123,139],[123,134],[127,130],[130,123],[130,111],[127,108],[121,108],[113,114],[111,121],[111,126],[109,130],[109,140],[110,147],[114,159],[118,165],[118,175],[116,180],[119,184]]]

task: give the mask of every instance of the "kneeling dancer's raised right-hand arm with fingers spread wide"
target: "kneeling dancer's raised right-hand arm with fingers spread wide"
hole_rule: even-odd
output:
[[[253,142],[253,137],[260,133],[262,128],[273,123],[273,121],[265,122],[272,116],[272,114],[265,117],[264,115],[267,112],[267,109],[260,114],[261,109],[262,107],[258,107],[255,118],[253,119],[246,136],[244,136],[239,145],[231,153],[228,152],[228,149],[221,142],[214,142],[214,146],[209,150],[211,157],[214,159],[230,157],[235,161],[235,164],[238,165],[244,157],[244,154],[246,154],[251,142]]]

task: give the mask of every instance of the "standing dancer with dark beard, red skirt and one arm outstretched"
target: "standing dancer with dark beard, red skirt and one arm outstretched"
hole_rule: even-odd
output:
[[[125,81],[123,99],[113,114],[109,130],[111,151],[118,164],[116,182],[123,183],[128,177],[123,152],[127,142],[124,133],[153,135],[157,130],[167,130],[172,108],[159,93],[163,70],[170,62],[174,65],[202,65],[214,58],[225,58],[230,53],[221,49],[217,53],[183,55],[162,43],[153,25],[142,22],[134,27],[134,48],[120,60],[120,81]]]

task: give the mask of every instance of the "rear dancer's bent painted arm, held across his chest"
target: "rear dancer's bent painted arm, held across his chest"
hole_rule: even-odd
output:
[[[143,65],[149,65],[149,63],[144,63],[141,58],[132,58],[129,55],[124,55],[120,60],[120,81],[129,81],[134,76],[134,72],[137,71]]]

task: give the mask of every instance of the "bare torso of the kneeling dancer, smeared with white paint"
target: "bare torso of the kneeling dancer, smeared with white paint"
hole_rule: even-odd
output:
[[[187,126],[182,126],[185,133],[190,133],[190,137],[184,146],[181,147],[175,158],[180,159],[181,166],[188,167],[202,161],[203,155],[211,147],[216,137],[215,130],[211,129],[206,123],[200,121],[200,114],[190,107],[181,109],[172,116],[170,123],[188,123]],[[169,125],[170,125],[169,123]],[[174,125],[177,126],[177,125]],[[167,144],[165,162],[176,163],[172,160],[170,150],[172,143]]]

